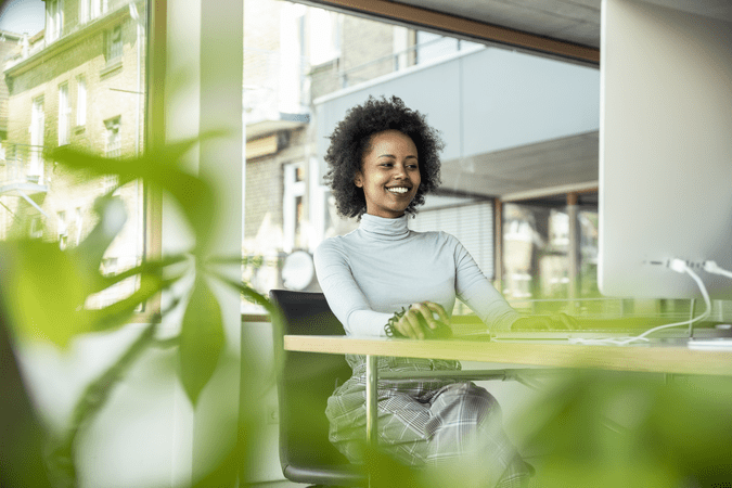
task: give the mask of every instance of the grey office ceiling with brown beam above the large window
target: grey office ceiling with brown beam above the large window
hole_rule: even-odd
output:
[[[599,64],[603,0],[295,0]],[[730,0],[632,0],[732,22]]]

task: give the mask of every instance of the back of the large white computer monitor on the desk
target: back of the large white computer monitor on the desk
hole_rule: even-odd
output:
[[[673,258],[732,270],[732,18],[719,5],[603,0],[598,274],[605,296],[701,296],[691,277],[663,266]],[[712,298],[732,299],[730,278],[692,269]]]

